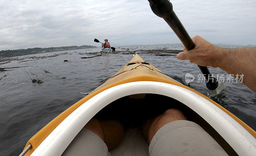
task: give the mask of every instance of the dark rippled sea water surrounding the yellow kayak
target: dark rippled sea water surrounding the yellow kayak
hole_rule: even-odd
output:
[[[225,47],[236,48],[237,46]],[[116,50],[122,51],[126,51],[127,48],[130,50],[165,48],[182,50],[182,45],[117,46],[116,48]],[[24,58],[23,61],[31,60],[32,56],[41,58],[27,62],[15,60],[0,66],[28,66],[12,68],[12,71],[0,73],[0,78],[7,74],[0,80],[1,156],[19,155],[27,141],[37,131],[84,97],[84,94],[79,94],[79,92],[91,92],[133,57],[132,54],[124,55],[121,52],[94,58],[80,58],[93,56],[80,53],[98,51],[100,48],[28,55],[18,58]],[[140,54],[140,52],[138,53]],[[54,54],[61,55],[49,57]],[[141,53],[140,56],[165,74],[176,75],[183,80],[185,80],[186,73],[193,74],[195,77],[197,74],[201,74],[196,64],[180,61],[176,56],[158,56],[149,53]],[[69,61],[63,62],[65,59]],[[53,74],[45,73],[43,69]],[[32,83],[25,70],[39,74],[44,83]],[[219,68],[209,67],[209,70],[212,74],[227,74]],[[35,75],[33,76],[36,78]],[[66,79],[62,79],[62,77],[66,77]],[[204,82],[194,81],[190,84],[191,88],[204,95],[209,94]],[[240,82],[225,83],[225,86],[227,90],[218,97],[213,97],[213,100],[256,130],[256,94]]]

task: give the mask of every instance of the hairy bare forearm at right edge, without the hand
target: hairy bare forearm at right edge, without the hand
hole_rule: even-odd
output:
[[[217,61],[216,66],[225,70],[229,74],[234,74],[236,78],[240,79],[243,74],[243,82],[247,87],[256,92],[256,48],[236,48],[236,49],[225,49],[216,48],[220,53],[220,61]]]

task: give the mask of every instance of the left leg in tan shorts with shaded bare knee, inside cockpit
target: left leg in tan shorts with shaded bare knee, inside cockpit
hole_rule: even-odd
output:
[[[62,156],[102,155],[116,147],[124,137],[119,121],[99,121],[92,118],[69,144]]]

